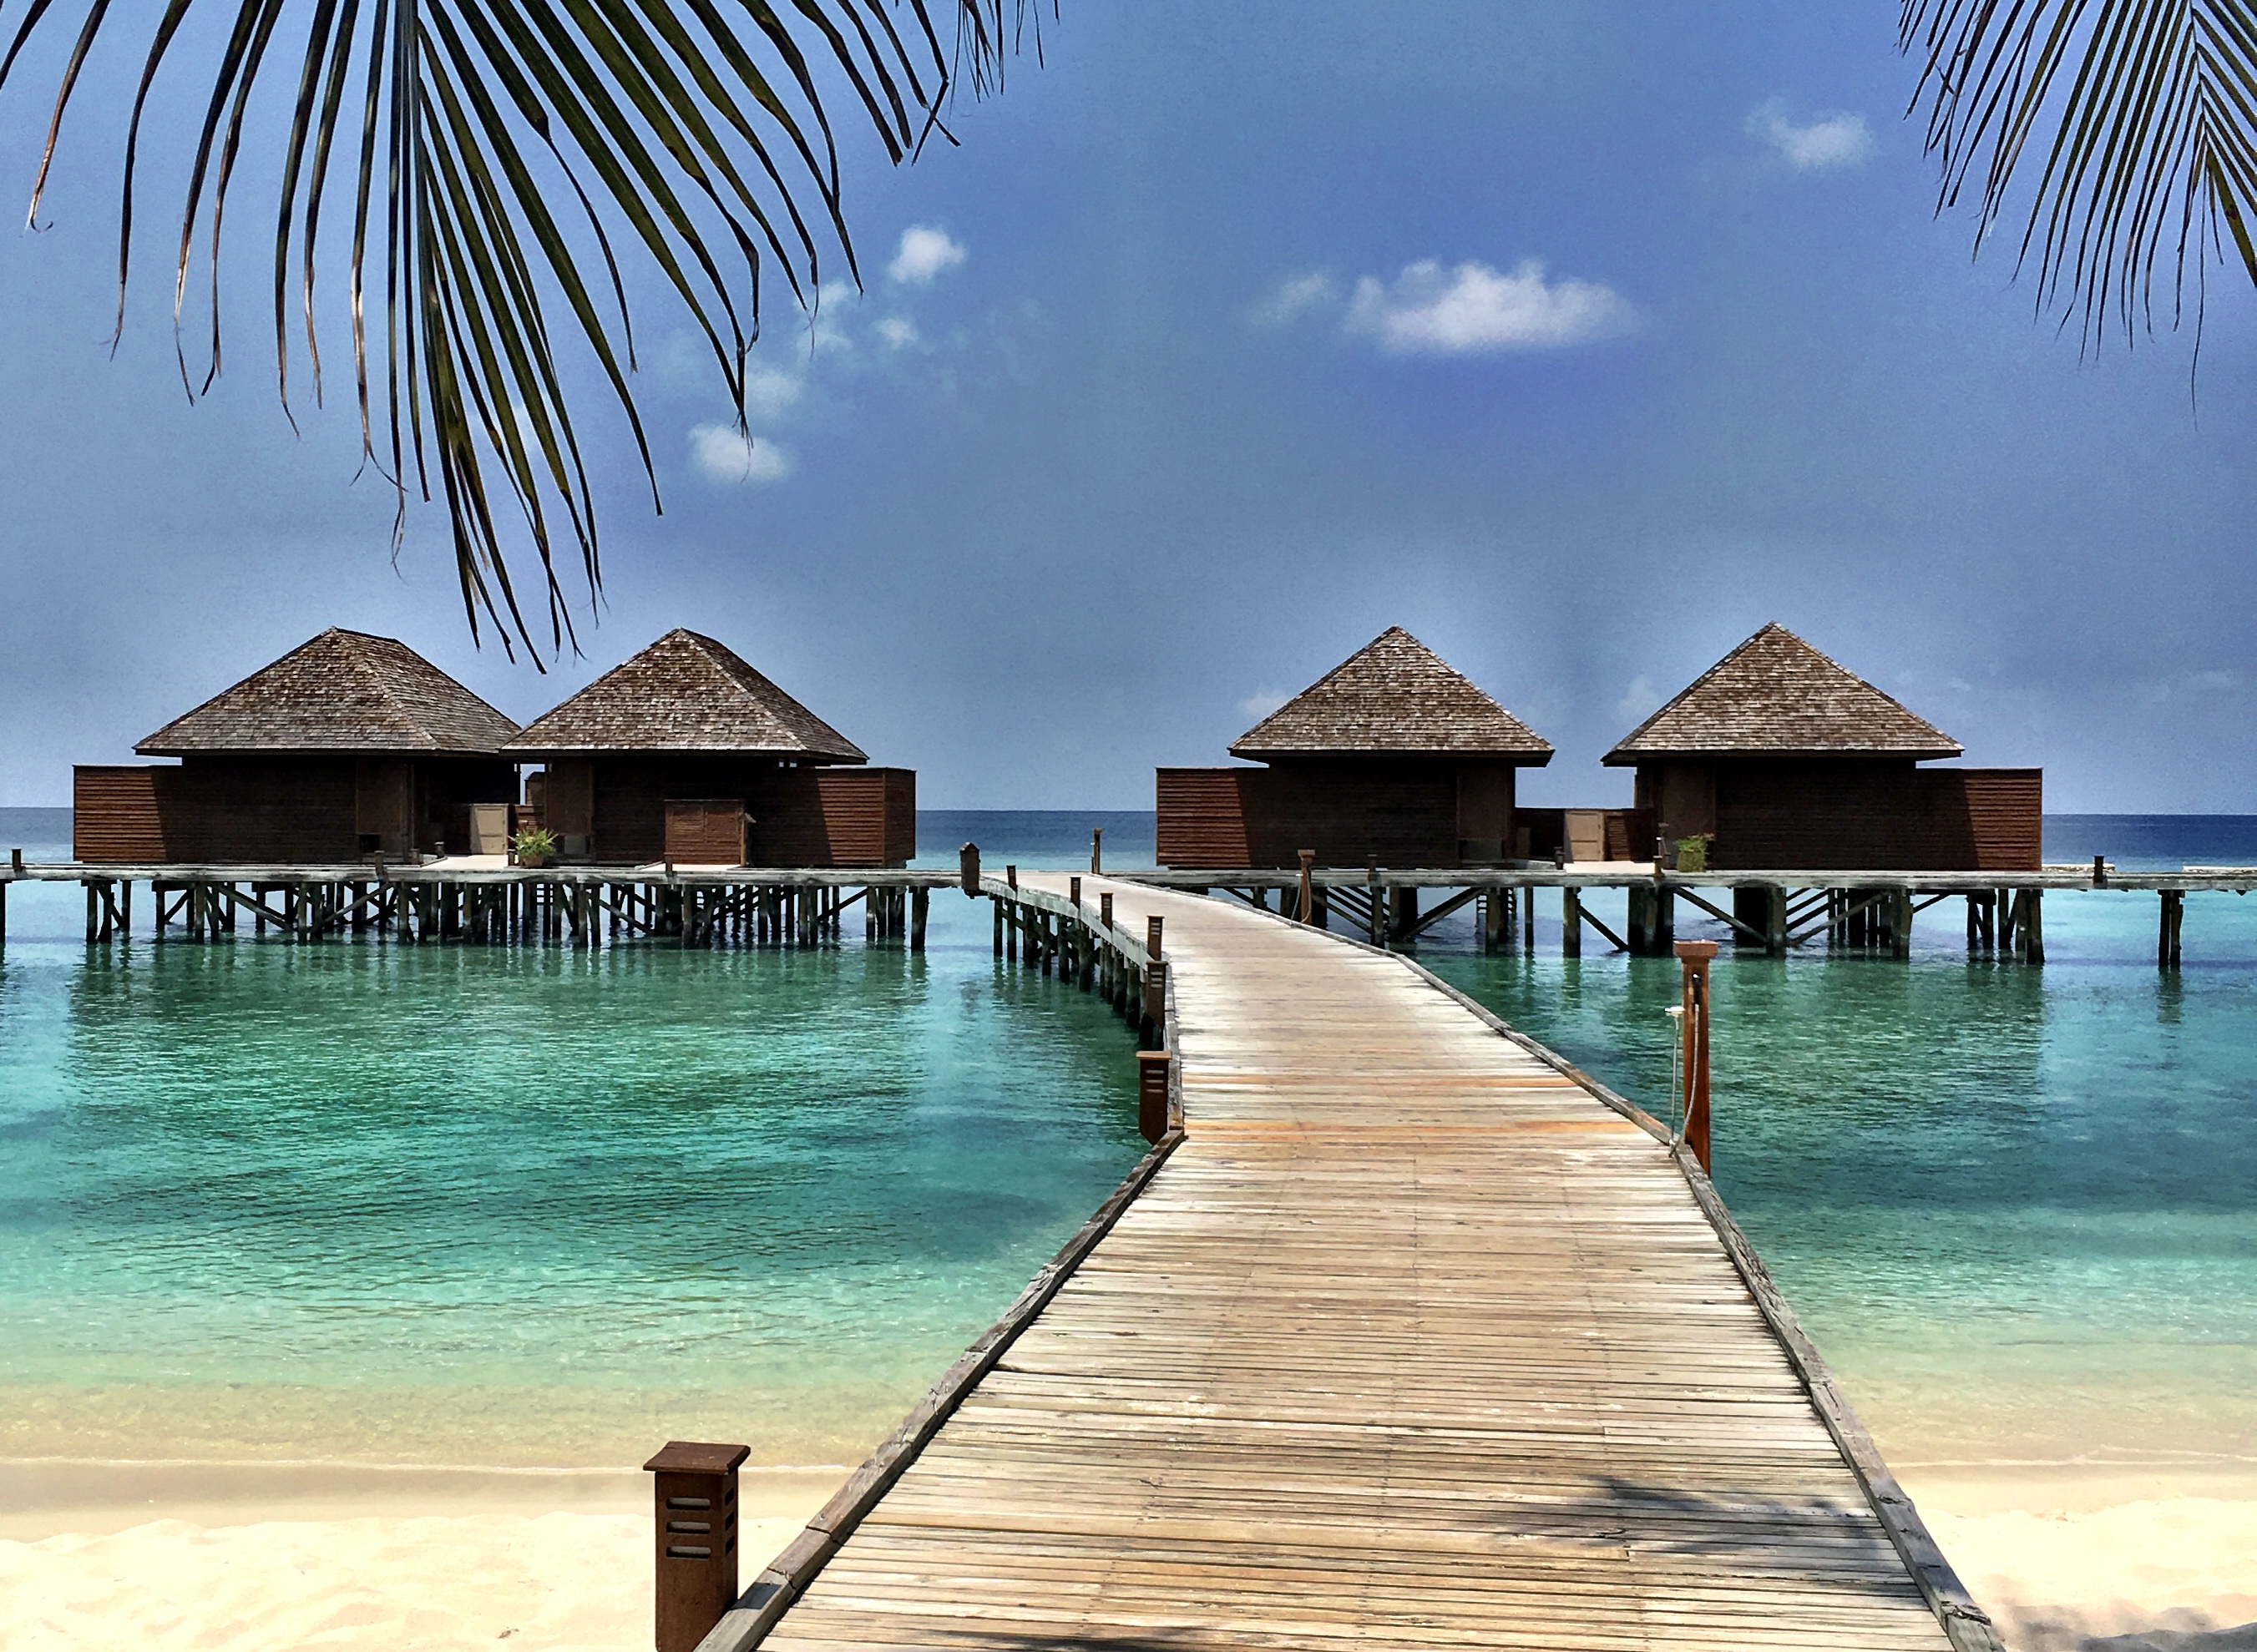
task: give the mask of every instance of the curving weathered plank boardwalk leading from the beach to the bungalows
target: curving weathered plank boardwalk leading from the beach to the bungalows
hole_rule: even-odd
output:
[[[1666,1144],[1397,957],[1099,889],[1183,1140],[709,1652],[1995,1645]]]

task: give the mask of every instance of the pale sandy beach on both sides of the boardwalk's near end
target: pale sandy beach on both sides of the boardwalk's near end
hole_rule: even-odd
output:
[[[747,1575],[844,1474],[747,1471]],[[2257,1471],[1903,1478],[2016,1652],[2257,1647],[2221,1634],[2257,1623]],[[0,1462],[0,1643],[643,1652],[648,1496],[632,1469]]]

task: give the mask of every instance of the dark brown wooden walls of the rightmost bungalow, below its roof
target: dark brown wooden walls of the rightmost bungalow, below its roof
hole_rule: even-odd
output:
[[[1697,756],[1636,765],[1668,840],[1713,835],[1722,871],[2036,871],[2045,770],[1923,770],[1905,758]]]

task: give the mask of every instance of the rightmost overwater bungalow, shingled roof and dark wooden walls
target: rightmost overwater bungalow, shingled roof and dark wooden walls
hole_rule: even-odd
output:
[[[1923,770],[1961,745],[1785,625],[1765,625],[1605,763],[1715,869],[2036,871],[2043,770]]]

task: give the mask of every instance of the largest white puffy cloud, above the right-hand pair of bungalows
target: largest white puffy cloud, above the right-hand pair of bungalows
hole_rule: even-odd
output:
[[[1381,350],[1458,357],[1476,350],[1548,350],[1627,332],[1639,314],[1611,287],[1544,280],[1544,264],[1521,260],[1510,275],[1487,264],[1442,269],[1406,264],[1395,284],[1365,275],[1347,305],[1347,329]]]

